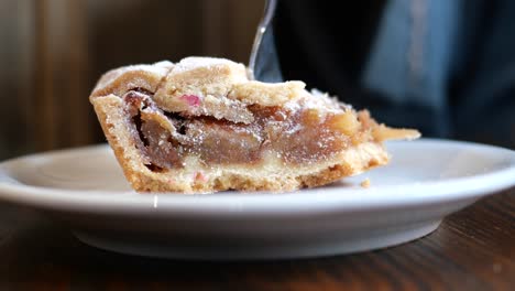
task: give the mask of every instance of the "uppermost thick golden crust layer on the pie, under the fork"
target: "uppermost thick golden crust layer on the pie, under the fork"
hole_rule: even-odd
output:
[[[245,105],[281,106],[302,96],[303,82],[262,83],[249,80],[243,64],[226,58],[186,57],[173,64],[168,61],[153,65],[131,65],[106,73],[95,87],[91,98],[123,96],[131,89],[154,94],[164,109],[183,111],[183,96],[218,99]]]

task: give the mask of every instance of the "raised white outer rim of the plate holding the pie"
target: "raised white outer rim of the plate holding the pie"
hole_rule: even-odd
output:
[[[131,191],[79,191],[53,187],[40,187],[15,183],[10,177],[8,168],[20,161],[52,158],[62,154],[73,154],[83,151],[102,151],[109,148],[107,143],[94,144],[80,148],[68,148],[48,152],[28,154],[10,159],[0,163],[0,200],[15,204],[35,206],[50,211],[73,211],[87,213],[124,213],[124,214],[169,214],[173,209],[175,215],[233,215],[251,214],[292,214],[292,213],[319,213],[319,212],[369,212],[371,209],[413,207],[431,203],[448,203],[460,200],[473,200],[496,191],[515,185],[515,151],[496,146],[482,144],[468,141],[449,139],[423,138],[416,141],[401,141],[406,144],[438,143],[454,147],[475,148],[482,151],[495,151],[506,154],[508,166],[493,172],[480,173],[472,176],[454,177],[450,181],[429,181],[412,184],[384,185],[381,188],[342,188],[342,187],[318,187],[300,190],[291,193],[217,193],[177,195],[171,193],[144,193],[138,194]],[[388,146],[386,146],[388,147]],[[409,146],[408,146],[409,147]],[[9,179],[13,181],[9,181]],[[492,181],[495,181],[493,183]],[[406,187],[409,185],[409,187]],[[457,191],[457,187],[461,187]],[[366,192],[368,198],[363,201],[350,200],[348,195],[360,191]],[[426,193],[424,195],[407,195],[408,192]],[[377,197],[394,196],[387,200]],[[428,192],[436,193],[427,195]],[[85,194],[85,195],[77,195]],[[266,198],[264,198],[266,197]],[[309,197],[309,198],[305,198]],[[322,200],[324,203],[313,203],[314,197]]]

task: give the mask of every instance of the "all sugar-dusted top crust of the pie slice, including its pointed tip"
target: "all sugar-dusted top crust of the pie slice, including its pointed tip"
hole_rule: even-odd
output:
[[[299,80],[250,80],[246,68],[241,63],[190,56],[175,64],[162,61],[152,65],[130,65],[109,71],[99,79],[90,100],[92,103],[95,98],[109,95],[122,97],[130,90],[142,90],[150,93],[156,105],[168,112],[211,116],[246,125],[254,121],[249,110],[250,105],[281,107],[302,104],[320,115],[335,110],[352,110],[351,106],[338,103],[336,98],[320,98],[321,93],[309,93],[305,87],[306,84]],[[376,141],[420,137],[416,130],[392,129],[384,125],[380,125],[375,131]]]

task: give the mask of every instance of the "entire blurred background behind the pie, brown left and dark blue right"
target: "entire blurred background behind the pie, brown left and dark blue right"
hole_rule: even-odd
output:
[[[425,137],[515,149],[515,1],[337,4],[280,0],[274,33],[286,79]],[[111,68],[190,55],[246,64],[263,7],[0,0],[0,160],[105,142],[88,96]]]

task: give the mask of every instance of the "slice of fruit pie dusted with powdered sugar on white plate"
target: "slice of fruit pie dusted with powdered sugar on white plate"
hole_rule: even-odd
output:
[[[419,137],[302,82],[249,80],[223,58],[113,69],[90,101],[139,192],[314,187],[386,164],[384,140]]]

